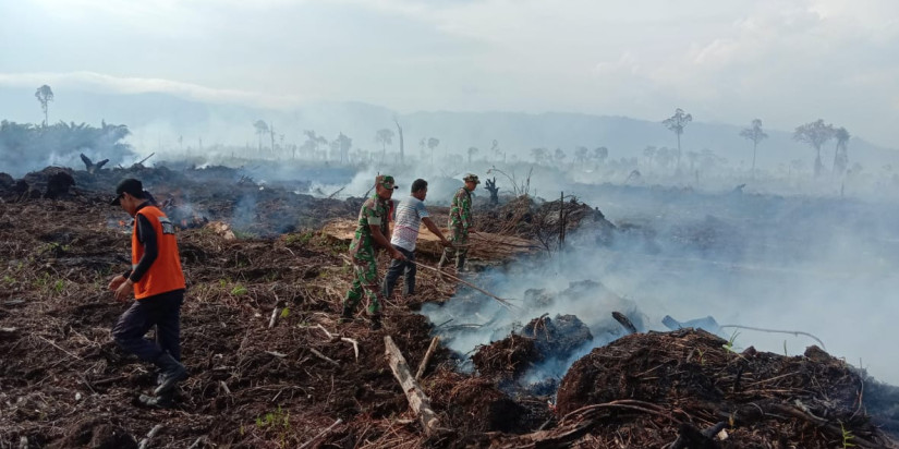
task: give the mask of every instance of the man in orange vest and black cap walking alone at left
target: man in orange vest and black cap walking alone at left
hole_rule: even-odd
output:
[[[135,301],[112,328],[116,343],[160,369],[154,396],[141,395],[145,405],[170,406],[174,387],[187,377],[181,364],[181,303],[184,272],[178,254],[174,227],[141,181],[125,179],[116,187],[113,205],[134,217],[131,235],[132,268],[109,282],[121,302],[134,293]],[[156,341],[144,335],[156,326]]]

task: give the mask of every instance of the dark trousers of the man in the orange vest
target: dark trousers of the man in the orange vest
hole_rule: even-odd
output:
[[[175,290],[135,301],[116,323],[112,338],[123,350],[145,362],[156,362],[168,352],[181,361],[181,303],[184,290]],[[145,339],[156,326],[156,341]]]

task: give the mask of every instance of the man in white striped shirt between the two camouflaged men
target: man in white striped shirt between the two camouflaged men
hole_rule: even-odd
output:
[[[422,222],[425,223],[428,230],[440,238],[440,244],[449,246],[450,242],[434,225],[434,220],[427,214],[425,208],[425,196],[427,196],[427,181],[417,179],[412,183],[412,195],[400,202],[397,206],[397,219],[393,225],[393,235],[390,239],[390,244],[405,256],[405,260],[393,259],[390,267],[387,269],[387,276],[384,278],[384,296],[390,298],[393,293],[393,287],[397,284],[400,276],[405,280],[403,288],[403,295],[410,296],[415,294],[415,243],[418,241],[418,228]]]

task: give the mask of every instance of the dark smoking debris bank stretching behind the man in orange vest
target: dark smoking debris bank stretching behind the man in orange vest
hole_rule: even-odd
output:
[[[226,221],[239,233],[275,238],[301,229],[317,229],[328,220],[352,217],[353,202],[317,198],[257,183],[239,169],[227,167],[171,170],[165,166],[104,170],[48,167],[15,180],[0,173],[0,198],[35,198],[108,203],[124,178],[143,181],[154,199],[183,229]]]

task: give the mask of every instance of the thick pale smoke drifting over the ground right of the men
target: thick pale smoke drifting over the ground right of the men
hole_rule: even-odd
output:
[[[469,353],[544,313],[576,315],[594,333],[593,345],[620,336],[612,311],[642,323],[641,330],[666,330],[666,315],[681,321],[710,315],[719,325],[813,333],[831,354],[899,383],[899,363],[890,355],[899,338],[895,203],[616,186],[584,186],[580,193],[619,226],[613,243],[571,235],[569,248],[549,260],[514,263],[472,279],[501,298],[519,299],[519,305],[527,304],[529,289],[546,289],[555,296],[551,305],[508,312],[464,291],[442,307],[427,305],[423,313],[436,324],[484,324],[499,316],[489,328],[444,330],[450,348]],[[562,294],[585,280],[604,288]],[[816,344],[804,336],[736,331],[740,348],[786,348],[795,355]],[[532,379],[564,369],[542,367]]]

